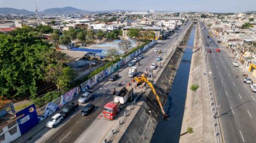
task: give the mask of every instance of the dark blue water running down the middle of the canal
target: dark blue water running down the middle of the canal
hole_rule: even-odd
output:
[[[195,28],[195,26],[192,28],[187,46],[194,45]],[[192,48],[186,48],[173,81],[172,89],[164,105],[164,111],[166,111],[166,114],[168,114],[170,118],[158,122],[151,143],[179,142],[187,93],[187,82],[190,74],[191,57]]]

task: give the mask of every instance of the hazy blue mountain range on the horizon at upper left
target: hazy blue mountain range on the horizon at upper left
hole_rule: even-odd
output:
[[[114,11],[127,11],[127,10],[99,10],[99,11],[87,11],[82,9],[76,9],[71,6],[66,6],[64,8],[51,8],[44,11],[39,11],[39,15],[56,15],[56,14],[92,14],[92,13],[102,13],[102,12],[114,12]],[[28,11],[25,9],[14,9],[14,8],[0,8],[0,14],[35,14],[34,11]]]

